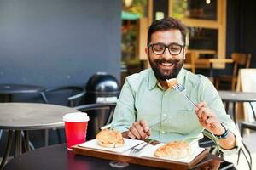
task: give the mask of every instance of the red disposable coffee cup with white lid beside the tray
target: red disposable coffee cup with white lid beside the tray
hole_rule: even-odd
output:
[[[67,140],[67,150],[72,150],[72,146],[86,141],[87,125],[89,116],[84,112],[68,113],[63,116],[65,122],[65,133]]]

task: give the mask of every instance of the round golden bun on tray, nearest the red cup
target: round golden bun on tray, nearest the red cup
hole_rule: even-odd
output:
[[[115,130],[104,129],[97,133],[96,139],[97,144],[108,148],[118,148],[125,144],[122,134]]]

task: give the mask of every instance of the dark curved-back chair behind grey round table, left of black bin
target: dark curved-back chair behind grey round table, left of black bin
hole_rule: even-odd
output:
[[[45,88],[41,93],[45,104],[67,105],[74,107],[79,104],[79,100],[84,96],[85,90],[79,86],[61,86],[55,88]],[[45,145],[49,143],[49,131],[45,130]],[[58,141],[61,143],[61,130],[57,129]]]

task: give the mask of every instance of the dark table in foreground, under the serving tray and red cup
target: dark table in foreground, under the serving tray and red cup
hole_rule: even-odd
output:
[[[94,158],[90,156],[76,156],[73,154],[73,152],[67,150],[66,144],[55,144],[38,150],[26,152],[25,154],[10,160],[3,169],[119,169],[111,167],[109,165],[110,162],[111,161]],[[227,167],[227,169],[228,167],[233,167],[233,164],[231,164],[230,162],[224,161],[218,156],[209,155],[206,158],[204,158],[204,160],[199,162],[197,166],[195,166],[195,169],[209,169],[209,167],[212,167],[213,164],[216,163],[220,164],[219,167]],[[143,167],[139,165],[129,164],[128,167],[125,167],[124,169],[149,170],[159,168]]]

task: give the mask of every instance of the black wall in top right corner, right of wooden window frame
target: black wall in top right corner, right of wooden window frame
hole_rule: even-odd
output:
[[[232,52],[251,53],[256,67],[256,5],[249,0],[228,0],[227,56]]]

